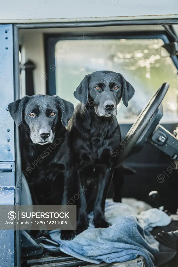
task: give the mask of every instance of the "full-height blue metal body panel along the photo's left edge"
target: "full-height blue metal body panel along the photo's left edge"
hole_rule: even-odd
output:
[[[14,121],[8,104],[14,101],[13,25],[0,25],[0,205],[14,205]],[[14,231],[0,230],[0,266],[13,267]]]

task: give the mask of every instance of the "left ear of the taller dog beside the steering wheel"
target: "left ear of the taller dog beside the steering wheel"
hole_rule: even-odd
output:
[[[84,79],[81,81],[76,91],[73,93],[76,99],[78,99],[81,103],[84,104],[84,107],[88,101],[88,82],[90,79],[90,75],[86,75]]]

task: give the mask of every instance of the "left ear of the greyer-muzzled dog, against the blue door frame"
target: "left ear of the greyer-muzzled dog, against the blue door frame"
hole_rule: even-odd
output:
[[[28,96],[24,96],[8,105],[9,112],[16,125],[19,126],[22,123],[22,112]]]

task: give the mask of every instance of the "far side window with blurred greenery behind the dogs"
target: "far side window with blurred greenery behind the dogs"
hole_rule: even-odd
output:
[[[170,57],[160,56],[161,39],[64,40],[55,46],[56,94],[78,101],[73,92],[83,77],[97,70],[120,72],[135,89],[126,108],[119,104],[119,123],[133,123],[158,87],[170,84],[163,100],[162,123],[174,123],[177,116],[177,69]]]

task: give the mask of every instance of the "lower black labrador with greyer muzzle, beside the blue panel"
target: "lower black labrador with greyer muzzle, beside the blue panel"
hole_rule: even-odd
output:
[[[10,114],[20,126],[22,171],[34,205],[67,205],[73,196],[71,151],[65,128],[73,110],[73,104],[59,96],[25,96],[9,104]],[[67,234],[62,231],[62,238],[74,235]]]

